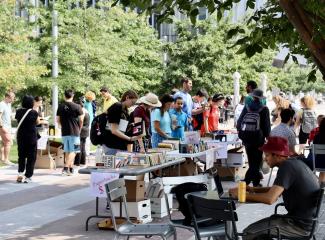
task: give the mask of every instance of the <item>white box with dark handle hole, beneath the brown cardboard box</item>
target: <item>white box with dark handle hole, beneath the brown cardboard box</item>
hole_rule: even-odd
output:
[[[120,217],[120,202],[112,202],[112,211],[116,217]],[[125,209],[122,205],[122,217],[126,217]],[[127,202],[127,210],[129,217],[134,217],[142,223],[152,221],[150,200],[143,200],[139,202]]]

